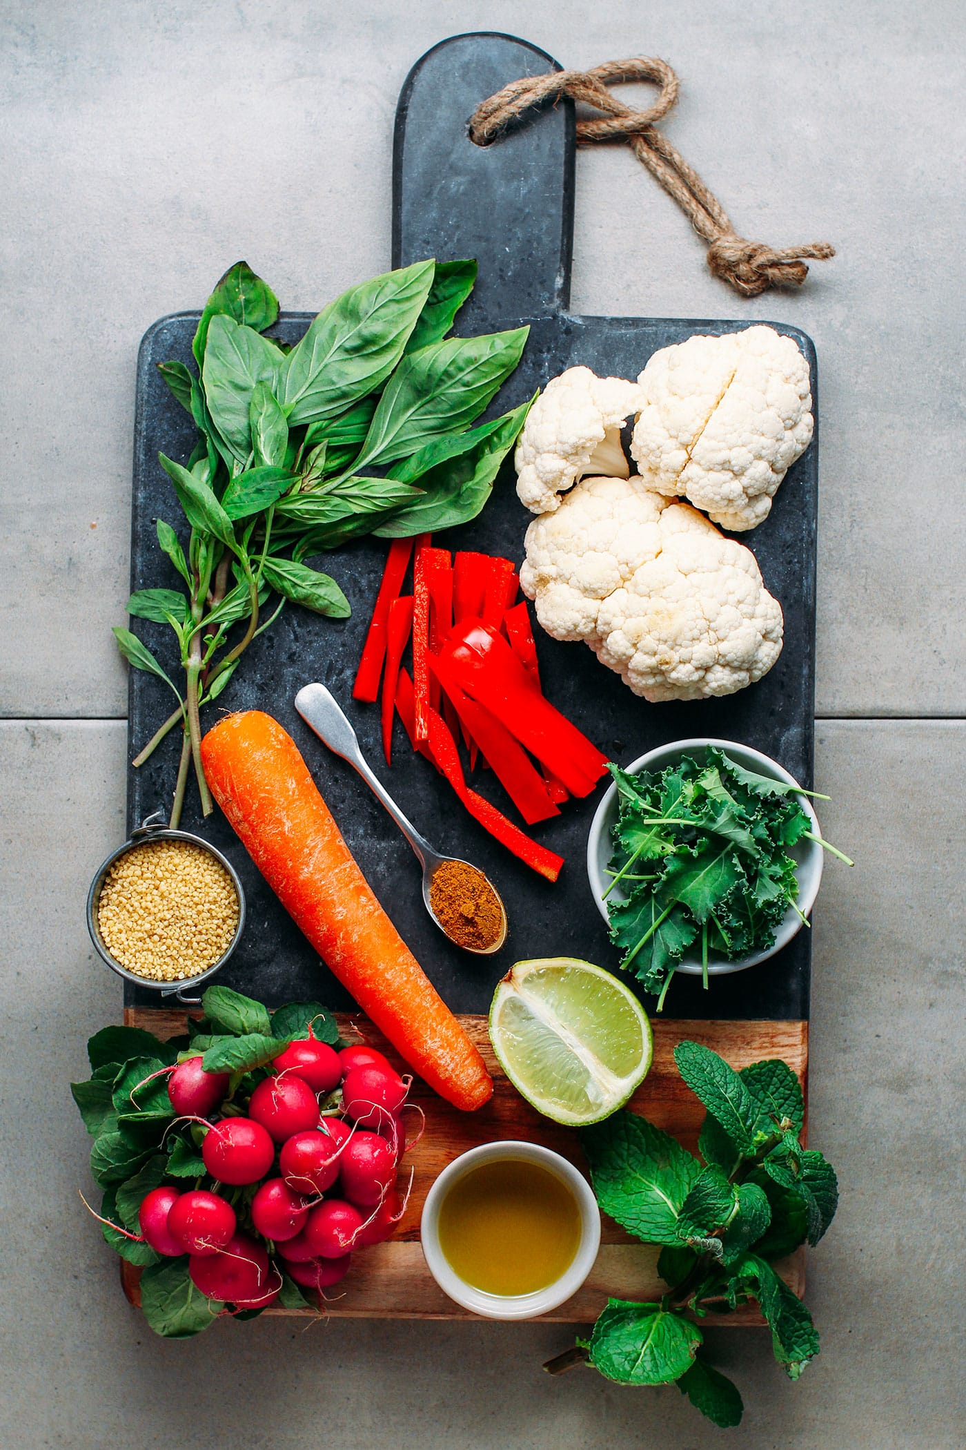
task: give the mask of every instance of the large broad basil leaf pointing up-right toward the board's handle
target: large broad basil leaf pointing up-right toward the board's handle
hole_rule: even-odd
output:
[[[349,287],[308,325],[275,389],[290,428],[333,418],[390,376],[433,281],[434,262],[414,262]],[[207,389],[206,389],[207,390]]]

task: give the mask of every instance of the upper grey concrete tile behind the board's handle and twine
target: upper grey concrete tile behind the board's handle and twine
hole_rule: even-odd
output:
[[[143,331],[200,306],[236,257],[288,307],[384,268],[406,71],[456,29],[503,29],[566,65],[666,57],[684,81],[668,135],[739,229],[839,245],[801,294],[743,302],[626,148],[579,157],[575,309],[776,318],[815,338],[820,713],[966,713],[965,22],[957,0],[817,0],[807,14],[737,0],[7,0],[0,710],[125,712],[110,625],[127,592]]]

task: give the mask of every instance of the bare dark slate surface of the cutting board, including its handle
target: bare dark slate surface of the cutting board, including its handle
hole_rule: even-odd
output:
[[[523,74],[539,74],[555,62],[543,51],[503,35],[469,35],[445,41],[414,67],[401,97],[395,129],[392,265],[421,257],[476,257],[481,281],[458,318],[458,332],[495,331],[529,322],[523,362],[494,403],[504,412],[529,397],[565,367],[584,362],[601,374],[633,378],[649,355],[694,332],[733,332],[734,322],[650,318],[575,318],[566,310],[574,213],[574,110],[569,102],[547,109],[533,123],[490,148],[474,146],[466,120],[479,100]],[[629,162],[630,164],[630,162]],[[324,241],[324,239],[323,239]],[[227,262],[233,258],[226,258]],[[258,270],[258,258],[251,258]],[[697,265],[697,249],[682,257]],[[271,277],[268,278],[271,281]],[[319,297],[322,306],[326,297]],[[723,304],[727,294],[721,293]],[[198,313],[162,318],[145,335],[138,361],[132,586],[172,584],[172,571],[155,534],[158,516],[175,523],[162,450],[185,460],[194,442],[187,413],[169,396],[156,364],[191,360]],[[308,313],[284,315],[274,334],[295,341]],[[812,368],[811,341],[794,336]],[[717,735],[743,741],[773,755],[804,784],[811,784],[814,713],[815,506],[817,439],[789,471],[768,521],[744,542],[757,555],[765,581],[785,610],[785,648],[759,684],[721,700],[649,705],[637,699],[579,644],[559,644],[537,631],[537,650],[549,697],[614,760],[627,763],[671,740]],[[494,497],[471,525],[449,531],[439,542],[505,554],[517,563],[532,518],[517,502],[507,464]],[[587,882],[587,831],[604,786],[587,800],[569,802],[556,821],[534,835],[566,857],[552,886],[497,845],[456,802],[432,767],[411,754],[397,722],[392,770],[379,748],[378,708],[350,699],[355,667],[366,632],[387,545],[364,539],[327,555],[330,568],[353,608],[345,622],[332,622],[287,608],[272,629],[249,648],[217,706],[265,709],[294,735],[349,847],[426,972],[458,1012],[485,1012],[494,983],[513,961],[526,957],[575,956],[614,967],[617,957]],[[171,637],[162,626],[135,621],[133,628],[172,667]],[[507,903],[510,937],[492,958],[474,958],[440,935],[427,918],[419,890],[419,869],[378,802],[349,766],[330,755],[295,715],[301,684],[322,680],[346,706],[364,750],[403,809],[442,850],[476,861]],[[143,745],[171,709],[167,687],[130,671],[130,754]],[[127,815],[136,825],[171,799],[180,742],[175,734],[148,766],[129,771]],[[500,805],[500,787],[478,770],[478,787]],[[511,809],[511,808],[510,808]],[[320,998],[348,1008],[346,993],[329,976],[306,940],[278,906],[233,832],[216,812],[201,824],[197,793],[190,787],[182,825],[229,854],[248,895],[245,940],[222,980],[269,1003]],[[801,931],[778,957],[747,972],[700,979],[678,976],[666,999],[669,1018],[808,1016],[810,932]],[[127,989],[127,1005],[159,1005],[154,992]],[[644,998],[644,1002],[649,999]],[[653,1005],[653,1003],[652,1003]]]

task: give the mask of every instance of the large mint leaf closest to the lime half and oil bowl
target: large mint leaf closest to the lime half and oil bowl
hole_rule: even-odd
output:
[[[698,1160],[633,1112],[582,1128],[581,1146],[604,1212],[644,1243],[678,1246],[678,1214],[701,1172]]]

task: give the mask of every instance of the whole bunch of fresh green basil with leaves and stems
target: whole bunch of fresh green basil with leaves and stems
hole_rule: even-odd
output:
[[[140,589],[127,612],[171,625],[184,690],[129,629],[114,635],[129,664],[178,697],[135,760],[143,764],[182,725],[172,826],[191,763],[203,813],[213,809],[198,710],[222,693],[251,641],[285,600],[335,619],[350,613],[339,584],[306,558],[364,534],[400,538],[466,523],[490,497],[530,403],[471,425],[516,368],[529,329],[446,338],[475,277],[474,261],[385,273],[323,307],[285,348],[264,336],[278,299],[236,262],[201,313],[197,374],[161,364],[198,429],[187,464],[159,455],[190,534],[185,550],[159,519],[158,542],[184,589]],[[272,594],[278,603],[265,619]],[[243,629],[229,648],[235,625]]]

